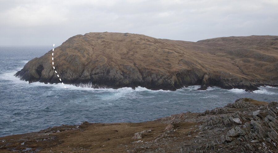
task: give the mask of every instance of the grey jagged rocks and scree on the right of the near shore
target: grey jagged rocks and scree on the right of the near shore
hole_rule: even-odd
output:
[[[243,98],[204,113],[189,112],[158,119],[179,125],[192,122],[197,116],[196,120],[202,124],[192,127],[187,134],[179,133],[181,126],[176,126],[164,138],[139,143],[134,148],[144,153],[169,152],[173,148],[181,153],[278,152],[278,103],[253,104],[252,101]]]

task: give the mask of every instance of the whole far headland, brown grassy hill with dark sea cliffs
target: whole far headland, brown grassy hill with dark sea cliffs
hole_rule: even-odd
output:
[[[66,84],[255,90],[259,85],[278,85],[278,36],[186,42],[129,33],[87,33],[55,48],[54,65]],[[29,82],[60,82],[53,70],[52,50],[29,61],[16,76]]]

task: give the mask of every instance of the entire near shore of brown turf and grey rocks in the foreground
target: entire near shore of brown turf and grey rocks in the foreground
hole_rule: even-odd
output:
[[[0,138],[0,152],[277,152],[278,103],[238,99],[140,123],[57,126]]]

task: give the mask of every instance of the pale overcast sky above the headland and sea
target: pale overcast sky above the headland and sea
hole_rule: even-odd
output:
[[[61,45],[89,32],[198,41],[278,35],[278,0],[0,0],[0,46]]]

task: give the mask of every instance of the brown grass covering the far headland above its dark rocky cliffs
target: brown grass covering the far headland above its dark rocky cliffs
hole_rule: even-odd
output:
[[[90,73],[97,66],[108,64],[126,73],[130,73],[127,66],[170,75],[184,69],[200,70],[215,77],[238,77],[267,84],[277,81],[278,76],[276,37],[221,37],[187,42],[129,33],[87,33],[55,48],[55,55],[59,55],[55,56],[55,66],[75,72],[73,80],[82,75],[82,70]],[[45,68],[52,68],[51,53],[40,58],[45,61]],[[48,72],[43,75],[47,77]]]

